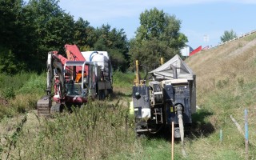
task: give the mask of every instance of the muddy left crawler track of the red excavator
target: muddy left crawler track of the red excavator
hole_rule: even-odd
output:
[[[38,116],[50,117],[51,99],[46,96],[38,100]]]

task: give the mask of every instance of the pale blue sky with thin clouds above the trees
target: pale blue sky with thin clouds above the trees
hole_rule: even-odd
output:
[[[58,5],[90,26],[124,29],[128,39],[135,37],[139,15],[156,7],[182,21],[180,31],[193,49],[218,45],[226,30],[238,36],[256,30],[256,0],[60,0]]]

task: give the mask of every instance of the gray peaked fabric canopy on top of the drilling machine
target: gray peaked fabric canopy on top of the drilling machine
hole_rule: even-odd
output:
[[[163,80],[174,79],[174,71],[172,69],[174,66],[177,69],[178,79],[187,79],[190,86],[190,105],[192,114],[196,111],[196,75],[186,65],[182,58],[178,54],[171,58],[168,62],[164,63],[162,66],[159,66],[155,70],[149,72],[153,76],[154,81],[161,82]]]

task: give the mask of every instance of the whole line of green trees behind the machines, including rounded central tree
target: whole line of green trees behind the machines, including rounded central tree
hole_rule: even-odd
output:
[[[74,20],[58,0],[0,0],[0,71],[46,70],[47,53],[65,54],[65,44],[76,44],[82,51],[108,51],[114,70],[126,71],[136,59],[154,68],[160,57],[169,60],[185,46],[180,25],[163,10],[145,10],[135,38],[128,40],[125,30],[110,24],[93,27],[83,18]]]

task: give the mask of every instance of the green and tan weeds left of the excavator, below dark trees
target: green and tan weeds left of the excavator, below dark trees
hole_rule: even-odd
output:
[[[0,119],[35,109],[46,87],[45,74],[24,71],[15,75],[0,74],[0,83]]]

